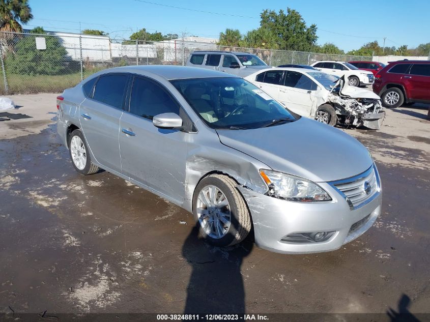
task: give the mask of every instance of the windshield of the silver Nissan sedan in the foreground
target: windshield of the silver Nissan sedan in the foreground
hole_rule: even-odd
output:
[[[269,95],[242,78],[170,81],[213,129],[255,129],[298,119]]]

